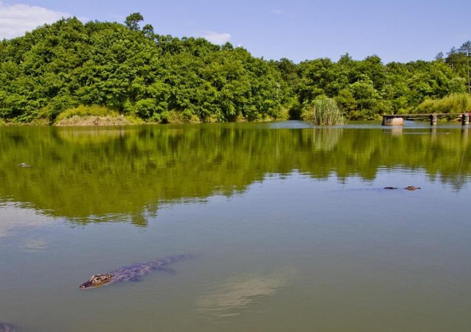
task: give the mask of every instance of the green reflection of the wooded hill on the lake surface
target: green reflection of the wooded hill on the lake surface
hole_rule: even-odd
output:
[[[82,222],[122,215],[145,226],[148,211],[156,213],[162,202],[232,195],[267,174],[294,170],[345,181],[375,179],[382,168],[424,169],[431,179],[459,190],[470,179],[469,140],[462,130],[448,131],[408,135],[404,129],[393,135],[381,129],[224,124],[78,133],[2,128],[0,198]],[[34,167],[21,169],[19,162]]]

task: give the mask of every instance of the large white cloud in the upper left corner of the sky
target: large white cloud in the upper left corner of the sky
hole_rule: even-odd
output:
[[[0,1],[0,39],[22,36],[44,23],[53,23],[69,13],[24,4],[9,5]],[[85,18],[84,18],[85,19]]]

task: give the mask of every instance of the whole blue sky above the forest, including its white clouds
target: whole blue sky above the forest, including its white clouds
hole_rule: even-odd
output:
[[[64,14],[122,22],[132,12],[159,34],[229,40],[256,57],[295,62],[346,52],[354,59],[377,54],[385,63],[432,60],[471,39],[471,1],[464,0],[0,0],[0,38]]]

